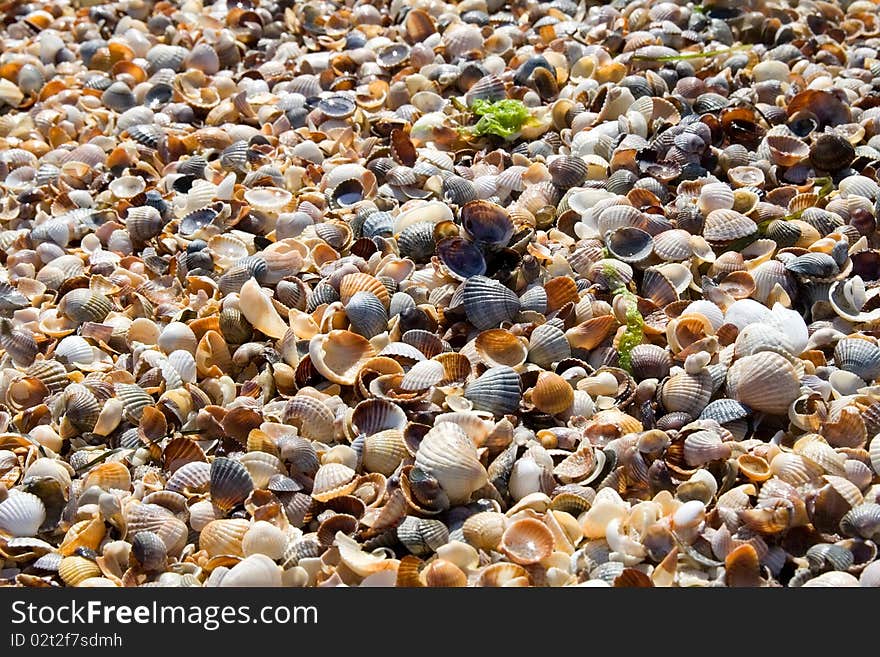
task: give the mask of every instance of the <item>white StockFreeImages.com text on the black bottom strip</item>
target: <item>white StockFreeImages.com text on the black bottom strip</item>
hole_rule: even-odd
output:
[[[256,612],[249,605],[166,605],[153,601],[146,605],[110,605],[101,600],[63,605],[37,605],[18,600],[12,603],[12,624],[58,623],[60,625],[119,623],[198,625],[213,632],[223,625],[287,623],[315,625],[318,609],[315,606],[267,605]]]

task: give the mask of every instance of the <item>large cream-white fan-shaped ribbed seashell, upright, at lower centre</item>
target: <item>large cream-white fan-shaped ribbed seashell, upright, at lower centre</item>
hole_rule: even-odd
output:
[[[471,439],[449,422],[439,422],[425,434],[415,467],[437,479],[451,504],[466,503],[488,480]]]

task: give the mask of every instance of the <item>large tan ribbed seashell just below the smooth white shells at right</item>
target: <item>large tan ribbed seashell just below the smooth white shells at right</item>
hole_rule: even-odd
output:
[[[763,413],[782,415],[800,394],[792,364],[773,352],[740,358],[727,372],[727,393]]]

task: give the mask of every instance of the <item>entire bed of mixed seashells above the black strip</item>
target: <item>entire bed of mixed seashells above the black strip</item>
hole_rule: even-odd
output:
[[[4,585],[880,585],[877,4],[0,11]]]

